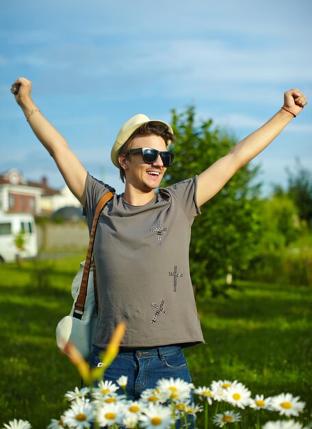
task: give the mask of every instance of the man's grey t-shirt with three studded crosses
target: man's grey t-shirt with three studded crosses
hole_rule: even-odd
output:
[[[127,324],[123,347],[204,342],[189,267],[191,226],[200,214],[196,185],[194,177],[160,188],[144,206],[115,194],[105,206],[94,239],[98,347],[106,347],[120,321]],[[88,174],[89,229],[96,204],[109,190]]]

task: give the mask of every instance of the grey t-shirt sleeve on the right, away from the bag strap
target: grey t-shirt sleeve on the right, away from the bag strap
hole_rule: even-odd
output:
[[[198,176],[196,175],[192,179],[186,179],[170,185],[168,188],[163,188],[172,198],[177,199],[188,219],[193,219],[195,216],[200,215],[200,208],[196,201],[197,178]]]

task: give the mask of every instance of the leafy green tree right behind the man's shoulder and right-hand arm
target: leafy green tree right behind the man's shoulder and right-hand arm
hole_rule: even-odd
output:
[[[213,127],[213,121],[197,123],[195,108],[178,114],[172,110],[174,164],[164,177],[165,186],[201,173],[226,155],[237,143],[228,132]],[[257,245],[260,224],[259,167],[240,169],[224,188],[202,208],[192,227],[190,269],[194,288],[203,292],[226,286],[226,274],[246,269]],[[221,282],[220,282],[221,279]]]

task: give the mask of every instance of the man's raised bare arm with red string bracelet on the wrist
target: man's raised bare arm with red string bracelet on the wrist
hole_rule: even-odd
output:
[[[197,204],[202,206],[228,182],[247,162],[260,154],[270,145],[285,126],[294,119],[307,104],[307,100],[298,89],[287,91],[283,108],[258,130],[237,143],[226,156],[214,162],[211,167],[198,176]]]

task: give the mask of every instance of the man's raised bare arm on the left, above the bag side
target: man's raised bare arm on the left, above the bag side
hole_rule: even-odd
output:
[[[12,93],[14,93],[18,105],[21,106],[34,134],[55,160],[68,188],[84,205],[86,169],[70,150],[65,138],[44,118],[31,99],[31,82],[24,77],[19,77],[12,85]]]

